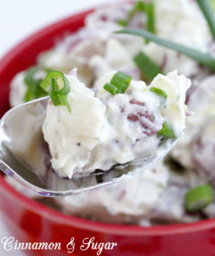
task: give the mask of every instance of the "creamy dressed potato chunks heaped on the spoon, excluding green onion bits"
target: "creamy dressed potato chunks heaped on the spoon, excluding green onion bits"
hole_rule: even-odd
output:
[[[115,74],[111,71],[99,79],[96,96],[76,77],[68,75],[71,113],[65,106],[55,107],[49,102],[42,131],[60,177],[71,178],[76,172],[96,169],[108,171],[116,164],[156,158],[161,142],[157,132],[164,120],[173,126],[176,137],[182,135],[189,79],[174,72],[167,77],[158,75],[150,86],[132,80],[124,94],[112,96],[103,86]],[[151,87],[165,90],[166,108],[163,98],[150,91]]]

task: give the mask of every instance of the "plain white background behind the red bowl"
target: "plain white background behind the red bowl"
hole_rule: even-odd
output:
[[[0,0],[0,59],[15,44],[43,26],[83,9],[116,1],[119,0]],[[0,219],[0,241],[5,236],[9,234]],[[19,251],[5,252],[0,242],[0,255],[25,254]]]

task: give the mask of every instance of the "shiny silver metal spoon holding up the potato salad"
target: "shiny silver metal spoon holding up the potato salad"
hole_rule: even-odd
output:
[[[116,182],[133,170],[143,170],[154,164],[173,147],[177,140],[165,139],[153,159],[137,160],[116,165],[109,172],[61,178],[48,166],[48,154],[42,150],[42,123],[45,119],[48,96],[13,108],[0,121],[0,169],[26,189],[44,196],[74,195],[89,189]],[[28,125],[25,125],[25,124]],[[50,158],[50,157],[49,157]],[[144,168],[143,168],[144,166]]]

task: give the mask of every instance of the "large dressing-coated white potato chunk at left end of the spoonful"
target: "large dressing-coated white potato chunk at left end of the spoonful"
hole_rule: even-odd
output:
[[[67,79],[71,84],[67,96],[71,113],[65,106],[56,108],[49,102],[42,127],[53,156],[52,165],[61,177],[71,177],[75,168],[85,166],[90,150],[105,142],[110,134],[105,105],[76,77],[67,76]]]

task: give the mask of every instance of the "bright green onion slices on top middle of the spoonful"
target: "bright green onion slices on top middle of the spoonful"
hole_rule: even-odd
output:
[[[104,85],[104,89],[115,95],[118,93],[124,93],[127,87],[131,83],[132,77],[126,73],[118,71],[110,80],[110,83]]]

